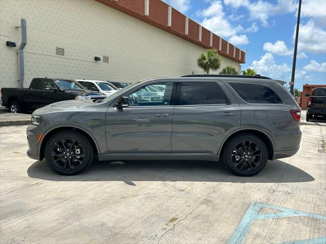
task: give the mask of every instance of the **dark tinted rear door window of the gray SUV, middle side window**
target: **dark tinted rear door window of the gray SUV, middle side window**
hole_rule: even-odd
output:
[[[181,82],[180,105],[228,103],[223,90],[215,82]]]

